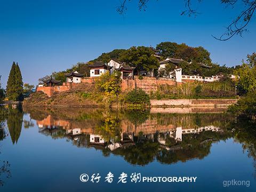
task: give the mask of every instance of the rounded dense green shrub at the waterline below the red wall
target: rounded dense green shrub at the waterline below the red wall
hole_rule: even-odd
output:
[[[142,89],[134,89],[127,93],[125,101],[131,104],[148,104],[150,99],[149,95]]]

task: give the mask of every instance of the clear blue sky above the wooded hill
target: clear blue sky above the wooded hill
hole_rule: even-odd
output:
[[[195,1],[196,2],[196,1]],[[181,16],[184,1],[150,0],[146,12],[138,0],[127,4],[119,15],[119,0],[94,1],[2,1],[0,0],[0,75],[6,86],[12,62],[18,62],[23,82],[37,80],[52,71],[70,68],[102,52],[134,45],[156,46],[171,41],[203,46],[213,62],[234,66],[255,52],[255,18],[243,37],[220,42],[220,35],[239,13],[241,6],[226,9],[220,1],[194,4],[196,18]]]

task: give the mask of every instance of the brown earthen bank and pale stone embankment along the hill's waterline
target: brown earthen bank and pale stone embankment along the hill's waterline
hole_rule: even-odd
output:
[[[227,108],[236,103],[238,99],[151,99],[150,105],[129,105],[129,103],[113,102],[110,107],[209,107],[209,108]],[[101,107],[101,103],[84,97],[80,92],[63,92],[54,94],[51,98],[42,92],[33,93],[29,98],[23,101],[26,107]]]

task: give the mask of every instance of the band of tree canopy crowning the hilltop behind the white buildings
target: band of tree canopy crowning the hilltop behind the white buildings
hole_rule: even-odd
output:
[[[154,56],[155,50],[152,47],[146,46],[132,46],[130,49],[115,49],[108,53],[102,53],[98,58],[91,60],[89,62],[78,62],[73,67],[53,72],[51,75],[56,80],[61,82],[66,82],[65,74],[70,73],[71,71],[78,71],[78,73],[84,74],[85,77],[90,76],[90,67],[88,65],[92,64],[95,61],[102,61],[108,63],[111,59],[117,62],[126,62],[131,67],[135,67],[134,74],[140,74],[141,71],[150,73],[154,72],[155,76],[166,76],[171,71],[175,69],[175,65],[168,63],[165,66],[165,69],[157,70],[159,67],[159,61],[165,60],[166,58],[175,58],[183,59],[184,62],[179,64],[179,67],[182,68],[182,74],[185,75],[200,75],[200,76],[214,76],[222,74],[228,76],[233,74],[233,68],[220,66],[212,62],[210,57],[210,52],[207,51],[204,47],[192,47],[188,46],[185,43],[175,43],[175,42],[162,42],[157,44],[156,50],[159,50],[161,53],[161,58],[156,58]],[[210,66],[211,68],[202,67],[202,65]],[[156,70],[155,70],[156,69]],[[158,74],[157,74],[158,73]],[[49,78],[50,76],[45,76],[44,78],[39,79],[39,82],[42,83],[42,80]]]

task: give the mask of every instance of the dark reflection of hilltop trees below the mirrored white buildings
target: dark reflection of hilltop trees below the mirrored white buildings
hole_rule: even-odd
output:
[[[202,159],[210,153],[211,144],[219,140],[231,137],[227,131],[212,132],[204,131],[197,134],[186,134],[182,142],[176,142],[168,138],[166,146],[149,140],[138,141],[135,145],[127,148],[118,148],[113,151],[116,155],[124,156],[124,159],[136,165],[146,165],[156,158],[161,163],[171,164],[178,161],[186,162],[189,159]]]

